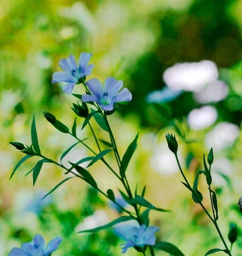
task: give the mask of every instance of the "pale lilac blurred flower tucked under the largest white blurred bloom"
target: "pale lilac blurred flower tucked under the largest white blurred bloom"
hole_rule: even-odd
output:
[[[201,91],[194,93],[194,99],[199,103],[218,102],[227,97],[229,93],[228,85],[217,80],[205,86]]]

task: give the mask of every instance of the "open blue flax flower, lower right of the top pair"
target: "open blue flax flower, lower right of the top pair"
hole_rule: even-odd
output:
[[[84,102],[95,101],[103,110],[111,111],[115,102],[132,99],[132,94],[127,88],[120,91],[123,81],[116,80],[113,77],[108,77],[104,86],[96,78],[90,79],[86,84],[93,95],[84,94],[81,100]]]

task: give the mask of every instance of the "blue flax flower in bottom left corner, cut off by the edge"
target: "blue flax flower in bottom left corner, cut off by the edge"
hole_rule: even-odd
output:
[[[44,238],[41,235],[35,235],[33,241],[22,244],[21,249],[14,247],[9,256],[50,256],[61,241],[61,237],[56,237],[45,248]]]

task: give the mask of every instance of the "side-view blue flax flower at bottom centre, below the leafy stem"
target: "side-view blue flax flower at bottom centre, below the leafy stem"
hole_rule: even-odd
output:
[[[122,247],[122,253],[126,253],[129,247],[138,246],[144,247],[144,245],[154,245],[155,235],[154,233],[159,229],[155,226],[146,227],[141,225],[140,227],[132,227],[129,230],[129,238],[126,244]]]

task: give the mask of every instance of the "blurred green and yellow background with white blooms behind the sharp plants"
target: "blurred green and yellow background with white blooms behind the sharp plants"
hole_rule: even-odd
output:
[[[66,175],[46,165],[33,188],[31,175],[24,175],[35,159],[24,163],[9,180],[23,157],[9,141],[30,145],[34,113],[46,156],[57,160],[74,143],[47,123],[42,113],[49,111],[71,127],[74,113],[70,108],[77,99],[63,93],[63,84],[52,84],[52,74],[61,71],[61,58],[73,54],[78,59],[81,52],[93,53],[89,63],[95,67],[88,79],[122,79],[133,95],[109,119],[121,155],[140,133],[128,170],[132,188],[138,183],[141,190],[146,184],[146,198],[171,210],[151,214],[152,224],[160,227],[157,241],[176,244],[186,255],[204,255],[221,246],[211,223],[180,182],[166,146],[166,132],[176,134],[179,156],[191,181],[197,170],[203,170],[203,153],[207,155],[213,147],[219,224],[225,236],[230,222],[242,228],[237,205],[242,196],[241,12],[240,0],[1,1],[1,256],[37,233],[46,242],[55,236],[64,238],[55,255],[121,254],[123,241],[113,229],[76,233],[119,215],[86,184],[72,179],[40,201]],[[73,93],[83,90],[77,85]],[[77,122],[80,127],[83,121]],[[88,129],[78,129],[80,138],[90,135]],[[105,138],[104,131],[98,132]],[[66,156],[66,164],[88,154],[81,146],[75,147]],[[103,189],[121,186],[102,164],[91,170]],[[204,202],[209,206],[206,197]],[[233,250],[233,255],[241,254],[241,236]],[[126,254],[137,255],[133,249]]]

